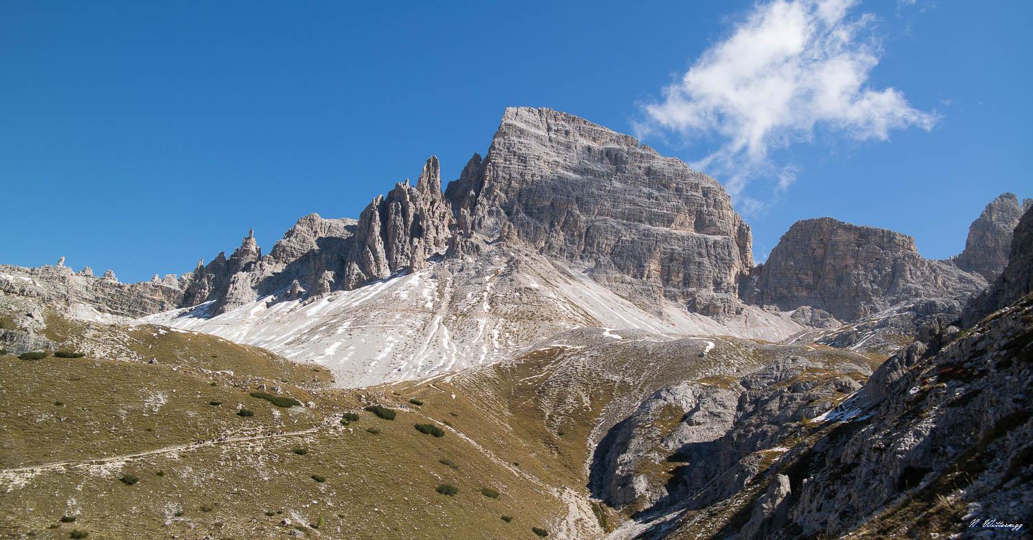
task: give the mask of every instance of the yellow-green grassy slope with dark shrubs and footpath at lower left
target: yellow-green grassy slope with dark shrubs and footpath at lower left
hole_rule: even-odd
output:
[[[74,341],[75,331],[61,338]],[[364,399],[398,406],[408,396],[328,389],[325,370],[213,337],[107,331],[158,363],[0,358],[0,537],[67,538],[80,529],[91,538],[282,538],[299,526],[330,538],[537,538],[531,527],[549,528],[565,510],[520,469],[457,434],[416,432],[428,417],[459,420],[433,402],[424,411],[409,405],[394,421],[364,411],[343,426],[341,414],[359,411]],[[232,375],[215,373],[225,370]],[[315,407],[282,409],[250,396],[259,384]],[[238,416],[241,406],[255,415]],[[288,435],[263,437],[269,430]],[[308,452],[298,455],[298,447]],[[119,457],[138,452],[156,453]],[[139,481],[120,482],[127,474]],[[441,483],[459,494],[437,494]],[[502,495],[483,497],[482,487]],[[59,523],[63,515],[76,519]],[[291,526],[280,525],[285,518]]]

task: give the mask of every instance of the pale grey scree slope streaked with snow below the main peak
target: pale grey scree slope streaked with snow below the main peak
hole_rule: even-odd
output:
[[[261,298],[209,317],[206,304],[142,319],[258,345],[332,368],[343,386],[417,379],[511,358],[571,328],[638,328],[780,340],[803,326],[756,308],[723,322],[657,304],[647,312],[562,262],[520,245],[428,267],[314,301]],[[198,312],[200,316],[198,316]]]

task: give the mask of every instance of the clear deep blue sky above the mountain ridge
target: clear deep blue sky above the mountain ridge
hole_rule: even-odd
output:
[[[806,22],[842,3],[809,1],[779,5]],[[859,86],[832,105],[805,92],[774,119],[703,76],[758,69],[739,64],[769,49],[752,31],[788,35],[769,2],[435,4],[4,2],[0,262],[64,255],[143,280],[250,227],[268,251],[305,214],[357,217],[431,154],[456,178],[508,105],[644,134],[733,184],[758,259],[818,216],[947,257],[990,199],[1033,196],[1028,2],[846,6],[746,97],[781,75],[824,81],[841,57]]]

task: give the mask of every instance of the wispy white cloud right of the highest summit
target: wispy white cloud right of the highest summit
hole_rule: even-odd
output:
[[[772,163],[772,150],[811,140],[816,129],[855,140],[885,140],[896,129],[932,129],[936,114],[917,110],[894,89],[872,88],[881,53],[874,15],[848,18],[855,0],[777,0],[757,4],[723,40],[696,59],[646,106],[639,134],[674,132],[714,138],[719,148],[696,163],[721,176],[740,204],[762,209],[744,190],[772,180],[775,198],[795,167]]]

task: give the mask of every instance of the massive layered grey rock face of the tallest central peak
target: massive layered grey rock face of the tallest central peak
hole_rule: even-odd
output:
[[[750,228],[714,179],[547,108],[507,108],[446,196],[461,232],[519,239],[622,295],[723,315],[752,265]],[[709,313],[710,312],[710,313]]]

